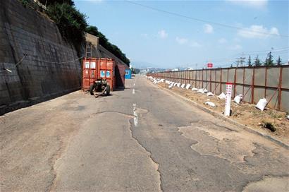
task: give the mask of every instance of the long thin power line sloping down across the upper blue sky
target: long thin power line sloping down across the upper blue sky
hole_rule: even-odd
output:
[[[260,32],[260,31],[248,30],[246,28],[238,28],[238,27],[235,27],[235,26],[232,26],[232,25],[226,25],[226,24],[223,24],[223,23],[216,23],[216,22],[209,21],[209,20],[204,20],[204,19],[201,19],[201,18],[184,16],[184,15],[181,15],[179,13],[173,13],[173,12],[170,12],[170,11],[164,11],[164,10],[161,10],[159,8],[154,8],[152,6],[146,6],[144,4],[139,4],[139,3],[135,2],[135,1],[129,1],[129,0],[124,0],[124,1],[126,1],[126,2],[128,2],[130,4],[135,4],[137,6],[142,6],[142,7],[149,8],[149,9],[152,9],[154,11],[159,11],[159,12],[162,12],[162,13],[166,13],[166,14],[169,14],[169,15],[172,15],[172,16],[178,16],[178,17],[187,18],[187,19],[190,19],[190,20],[197,20],[197,21],[202,22],[202,23],[211,23],[213,25],[219,25],[219,26],[224,27],[224,28],[232,28],[232,29],[237,29],[237,30],[244,30],[244,31],[247,31],[247,32],[259,33],[259,34],[263,34],[263,35],[273,35],[273,36],[278,36],[278,37],[287,37],[287,38],[289,38],[289,35],[278,35],[278,34],[272,34],[272,33],[269,33],[269,32]]]

